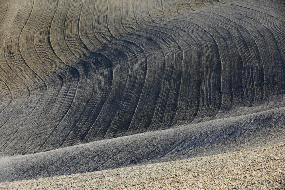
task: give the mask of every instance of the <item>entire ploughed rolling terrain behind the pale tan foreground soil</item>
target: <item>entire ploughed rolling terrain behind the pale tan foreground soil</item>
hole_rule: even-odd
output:
[[[0,35],[0,181],[284,140],[282,0],[9,0]]]

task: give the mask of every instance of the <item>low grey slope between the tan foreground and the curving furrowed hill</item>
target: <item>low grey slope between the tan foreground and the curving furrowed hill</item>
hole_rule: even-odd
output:
[[[0,182],[182,160],[284,142],[285,107],[0,158]]]

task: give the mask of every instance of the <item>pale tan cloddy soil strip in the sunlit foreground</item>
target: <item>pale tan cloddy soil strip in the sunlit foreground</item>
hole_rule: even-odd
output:
[[[285,189],[285,143],[225,154],[59,177],[0,189]]]

